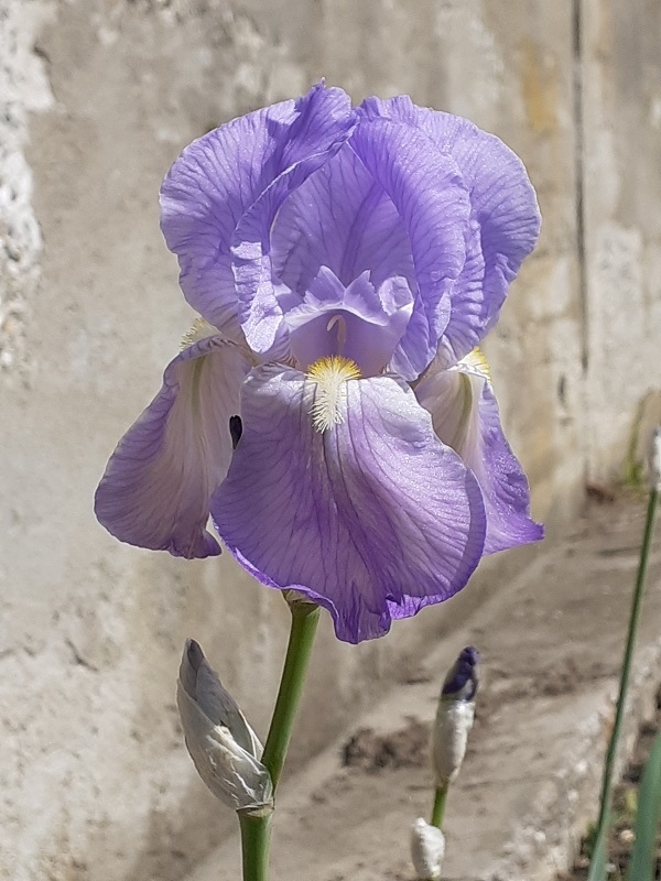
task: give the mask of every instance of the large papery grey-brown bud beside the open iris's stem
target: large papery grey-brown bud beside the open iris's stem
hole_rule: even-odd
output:
[[[213,794],[234,811],[271,807],[262,746],[195,640],[186,640],[176,703],[186,747]]]

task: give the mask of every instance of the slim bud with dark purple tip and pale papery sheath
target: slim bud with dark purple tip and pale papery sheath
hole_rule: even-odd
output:
[[[452,783],[462,768],[468,733],[475,720],[478,661],[477,649],[463,649],[443,683],[432,730],[436,786]]]

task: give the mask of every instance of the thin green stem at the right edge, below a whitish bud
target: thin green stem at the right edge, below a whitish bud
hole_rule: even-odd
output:
[[[655,489],[651,490],[648,511],[647,511],[647,520],[644,524],[644,533],[642,537],[642,547],[640,548],[638,576],[636,578],[636,588],[633,590],[633,598],[631,600],[631,612],[629,616],[629,632],[627,633],[627,644],[625,648],[625,656],[622,660],[622,668],[620,673],[620,684],[619,684],[619,694],[617,698],[617,706],[615,713],[615,724],[613,726],[610,742],[608,744],[608,752],[606,753],[606,763],[604,765],[604,777],[602,781],[602,798],[599,803],[599,818],[597,820],[595,841],[599,841],[602,838],[605,837],[606,827],[608,824],[608,815],[610,813],[610,800],[613,794],[613,772],[615,768],[617,747],[621,736],[621,730],[625,719],[625,707],[627,704],[627,696],[629,693],[629,679],[631,678],[631,661],[633,659],[636,635],[638,633],[638,626],[640,623],[644,577],[647,574],[650,546],[652,544],[652,532],[654,529],[654,514],[657,511],[658,496],[659,496],[658,490]]]

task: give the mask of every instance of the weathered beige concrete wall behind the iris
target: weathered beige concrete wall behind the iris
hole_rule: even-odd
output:
[[[121,546],[91,514],[191,323],[156,203],[182,146],[326,76],[468,116],[524,159],[543,236],[486,348],[553,526],[659,404],[660,17],[653,0],[0,0],[0,877],[181,878],[232,823],[181,741],[184,638],[260,731],[277,686],[279,596],[227,556]],[[294,761],[530,553],[377,643],[325,622]]]

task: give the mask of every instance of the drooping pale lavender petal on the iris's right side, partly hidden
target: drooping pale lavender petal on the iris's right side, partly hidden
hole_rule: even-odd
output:
[[[487,512],[485,553],[537,542],[543,529],[530,518],[528,480],[500,425],[498,403],[486,376],[465,365],[434,370],[415,387],[441,440],[473,470]]]

